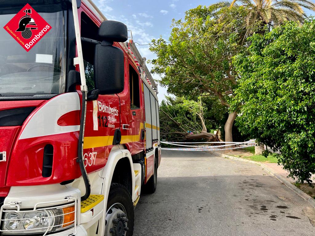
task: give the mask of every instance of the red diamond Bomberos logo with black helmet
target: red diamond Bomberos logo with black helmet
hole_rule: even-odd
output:
[[[3,28],[27,52],[51,30],[51,26],[29,4],[26,4]]]

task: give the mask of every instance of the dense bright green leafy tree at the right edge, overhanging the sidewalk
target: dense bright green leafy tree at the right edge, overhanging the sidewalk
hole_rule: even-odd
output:
[[[234,109],[241,131],[280,151],[298,181],[315,173],[315,20],[288,22],[250,37],[249,55],[233,59],[240,80]]]

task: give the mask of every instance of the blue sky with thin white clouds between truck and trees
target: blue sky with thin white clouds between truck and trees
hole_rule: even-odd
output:
[[[168,39],[172,19],[185,17],[185,11],[198,5],[210,5],[216,0],[158,0],[158,1],[126,1],[126,0],[95,0],[95,4],[108,20],[118,20],[132,31],[134,42],[150,43],[153,38]],[[309,11],[307,12],[309,13]],[[149,46],[137,47],[143,57],[154,59],[156,56],[149,51]],[[151,65],[147,65],[151,69]],[[153,75],[154,79],[159,76]],[[167,94],[166,88],[158,86],[158,98],[161,102]]]

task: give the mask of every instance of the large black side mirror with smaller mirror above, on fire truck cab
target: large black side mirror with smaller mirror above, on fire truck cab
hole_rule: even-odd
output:
[[[124,89],[124,55],[113,42],[128,39],[127,27],[121,22],[106,20],[100,25],[98,34],[102,42],[95,45],[95,88],[102,95],[121,93]]]

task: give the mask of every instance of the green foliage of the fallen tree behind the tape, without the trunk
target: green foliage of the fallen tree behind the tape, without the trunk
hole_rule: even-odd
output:
[[[200,117],[197,115],[203,110],[203,119],[207,130],[217,129],[222,114],[226,112],[217,99],[213,97],[202,97],[199,101],[188,100],[184,97],[166,96],[166,101],[160,104],[160,127],[161,139],[180,140],[183,139],[178,133],[186,133],[188,130],[197,134],[203,131]]]

